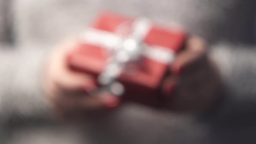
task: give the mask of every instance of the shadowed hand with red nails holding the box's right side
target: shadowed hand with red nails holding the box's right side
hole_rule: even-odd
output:
[[[202,38],[191,37],[170,66],[171,75],[162,87],[169,109],[202,112],[216,102],[221,80],[206,48]]]

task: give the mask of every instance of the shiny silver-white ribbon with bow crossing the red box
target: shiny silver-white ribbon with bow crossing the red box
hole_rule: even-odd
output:
[[[151,29],[152,24],[148,19],[139,18],[133,21],[131,34],[124,38],[115,33],[93,28],[86,29],[82,33],[81,38],[84,43],[112,51],[109,63],[98,77],[99,83],[103,86],[101,89],[107,89],[116,96],[122,95],[125,88],[116,80],[126,64],[138,61],[141,56],[163,64],[174,60],[174,51],[170,48],[143,42]]]

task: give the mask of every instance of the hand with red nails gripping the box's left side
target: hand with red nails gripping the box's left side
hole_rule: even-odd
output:
[[[69,68],[68,55],[78,45],[79,40],[76,39],[57,45],[45,68],[45,92],[59,118],[74,117],[80,112],[116,107],[119,104],[117,97],[110,93],[89,96],[87,92],[96,88],[96,80]]]

